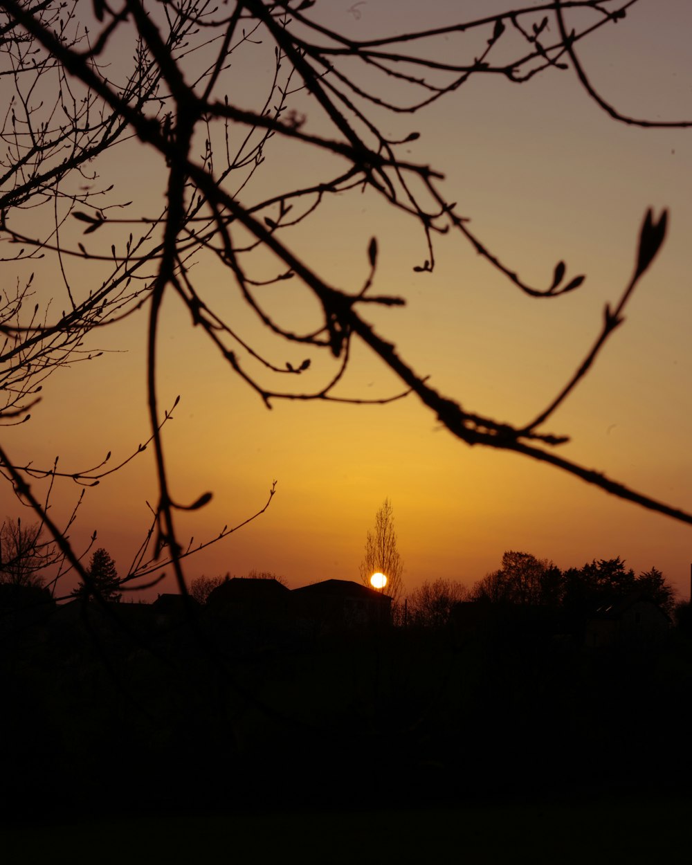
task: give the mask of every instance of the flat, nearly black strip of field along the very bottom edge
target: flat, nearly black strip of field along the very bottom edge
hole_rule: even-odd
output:
[[[41,803],[37,800],[36,805]],[[692,798],[602,798],[362,811],[27,823],[0,830],[4,862],[685,862]]]

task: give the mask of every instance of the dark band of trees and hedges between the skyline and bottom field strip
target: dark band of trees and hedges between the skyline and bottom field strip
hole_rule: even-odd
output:
[[[40,605],[22,586],[35,604],[0,606],[0,823],[36,790],[51,817],[686,791],[692,760],[650,743],[692,725],[692,629],[586,644],[562,614],[667,586],[652,572],[507,553],[474,586],[411,593],[412,625],[480,613],[439,631],[193,616],[175,595]]]

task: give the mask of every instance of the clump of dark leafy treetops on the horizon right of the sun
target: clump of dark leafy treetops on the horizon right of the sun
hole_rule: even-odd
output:
[[[471,588],[455,580],[426,581],[408,595],[403,618],[411,625],[445,625],[462,601],[544,606],[588,614],[633,593],[668,615],[673,612],[675,590],[657,567],[637,575],[618,556],[561,571],[548,559],[508,550],[503,554],[502,567],[487,573]]]

